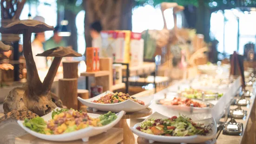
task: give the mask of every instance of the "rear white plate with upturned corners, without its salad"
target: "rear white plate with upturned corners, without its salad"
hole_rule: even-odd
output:
[[[154,95],[148,96],[148,97],[139,97],[137,98],[138,100],[141,100],[145,103],[145,105],[140,105],[137,102],[134,102],[130,99],[125,100],[124,102],[121,103],[116,103],[116,104],[99,104],[99,103],[93,103],[93,100],[97,100],[102,96],[105,96],[108,93],[113,93],[110,91],[103,92],[102,94],[89,98],[89,99],[83,99],[80,97],[77,97],[78,100],[83,104],[88,107],[91,107],[93,111],[112,111],[112,112],[119,112],[119,111],[126,111],[126,112],[135,112],[135,111],[140,111],[145,108],[147,108],[149,105],[151,105]]]

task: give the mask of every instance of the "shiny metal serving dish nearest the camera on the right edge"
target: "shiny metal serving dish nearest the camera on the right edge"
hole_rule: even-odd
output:
[[[239,135],[241,132],[243,132],[243,124],[237,123],[234,118],[224,124],[223,134]]]

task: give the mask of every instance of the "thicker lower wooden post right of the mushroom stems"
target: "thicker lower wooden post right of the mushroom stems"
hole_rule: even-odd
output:
[[[59,98],[68,109],[78,109],[77,79],[59,79]]]

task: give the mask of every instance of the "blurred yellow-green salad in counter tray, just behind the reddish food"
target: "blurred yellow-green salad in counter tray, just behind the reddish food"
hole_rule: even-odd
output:
[[[196,98],[196,99],[202,99],[202,90],[197,90],[197,89],[185,89],[184,91],[179,92],[181,96],[186,97],[186,98]],[[215,99],[216,95],[218,98],[223,96],[223,93],[215,93],[211,91],[206,91],[204,92],[206,95],[205,99]]]

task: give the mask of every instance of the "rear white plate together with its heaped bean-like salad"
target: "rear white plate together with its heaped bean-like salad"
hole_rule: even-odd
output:
[[[91,107],[93,111],[135,112],[143,110],[151,105],[153,98],[154,95],[135,98],[122,92],[113,93],[106,91],[89,99],[78,97],[78,100],[83,105]]]

